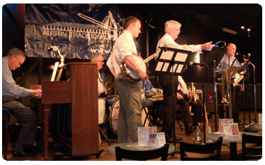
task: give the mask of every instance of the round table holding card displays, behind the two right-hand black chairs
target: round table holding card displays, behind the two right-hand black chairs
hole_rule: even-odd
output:
[[[220,134],[220,132],[212,132],[206,134],[207,139],[211,139],[213,141],[217,141],[220,136],[222,136],[222,141],[230,142],[230,160],[237,160],[237,148],[236,143],[242,142],[242,134],[252,135],[252,136],[260,136],[260,134],[250,133],[250,132],[239,132],[239,135],[225,135]]]

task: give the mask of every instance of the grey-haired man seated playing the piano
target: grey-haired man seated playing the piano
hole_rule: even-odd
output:
[[[16,47],[2,57],[2,107],[10,109],[10,113],[20,120],[22,126],[13,149],[13,157],[29,157],[35,154],[32,149],[36,136],[37,116],[20,102],[20,97],[41,97],[41,90],[31,90],[17,85],[11,72],[20,68],[25,60],[24,52]]]

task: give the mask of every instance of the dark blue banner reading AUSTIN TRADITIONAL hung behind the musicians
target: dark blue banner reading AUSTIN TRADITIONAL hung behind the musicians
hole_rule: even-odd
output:
[[[116,4],[26,4],[25,54],[60,58],[50,46],[59,46],[65,58],[89,59],[102,54],[107,60],[115,40],[123,33],[124,17]],[[135,40],[141,52],[141,38]]]

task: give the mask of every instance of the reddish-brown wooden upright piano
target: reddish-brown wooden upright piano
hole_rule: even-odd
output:
[[[72,155],[99,152],[98,142],[98,69],[96,63],[69,63],[70,79],[43,81],[42,104],[70,103],[72,107]],[[49,108],[44,106],[45,139],[48,135]],[[45,141],[45,158],[47,141]]]

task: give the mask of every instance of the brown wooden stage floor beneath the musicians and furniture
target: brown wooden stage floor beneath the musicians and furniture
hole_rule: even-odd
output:
[[[257,113],[262,113],[262,111],[257,111]],[[253,121],[253,119],[255,118],[255,111],[251,111],[250,113],[251,119]],[[245,123],[248,123],[248,112],[245,113]],[[241,123],[243,123],[243,111],[240,111],[240,116],[239,119],[241,120]],[[181,123],[181,121],[180,121]],[[211,125],[211,130],[212,132],[215,131],[215,125],[214,125],[214,116],[209,119],[209,125]],[[184,125],[183,123],[181,123],[181,126],[184,129]],[[158,130],[160,130],[161,127],[158,127]],[[240,126],[240,131],[242,131],[241,126]],[[105,130],[103,130],[104,132]],[[257,132],[258,134],[262,135],[262,131]],[[176,122],[176,136],[180,136],[183,138],[183,142],[186,143],[192,143],[192,139],[195,137],[195,133],[193,133],[190,136],[185,135],[185,130],[181,131],[181,128],[179,127],[179,124]],[[82,161],[115,161],[116,157],[115,155],[112,155],[111,153],[108,152],[108,148],[109,145],[107,144],[107,142],[105,141],[105,139],[103,138],[103,136],[101,137],[101,139],[103,140],[103,143],[101,144],[100,148],[103,149],[104,151],[101,153],[100,157],[96,157],[96,156],[90,156],[90,157],[82,157],[82,158],[78,158],[78,159],[73,159],[72,157],[65,157],[64,159],[59,159],[59,160],[82,160]],[[110,142],[112,142],[112,139],[109,139]],[[116,142],[114,141],[112,143],[112,145],[116,144]],[[173,143],[172,143],[173,144]],[[223,142],[222,144],[226,144],[229,145],[229,142]],[[39,152],[36,156],[34,157],[13,157],[12,155],[12,150],[15,146],[15,143],[8,143],[8,155],[7,155],[7,161],[44,161],[44,157],[43,157],[43,152]],[[54,157],[54,152],[62,152],[64,153],[63,150],[61,150],[61,148],[59,147],[55,147],[55,143],[54,142],[49,142],[49,155],[48,155],[48,159],[47,161],[53,161],[53,157]],[[176,143],[176,150],[179,150],[179,143]],[[242,145],[241,143],[237,143],[237,155],[238,155],[238,160],[241,160],[241,152],[242,152]],[[192,153],[189,153],[189,156],[192,156]],[[198,156],[198,155],[195,155]],[[3,155],[2,155],[3,157]],[[227,146],[222,146],[222,150],[221,150],[221,161],[228,161],[230,158],[230,149]],[[158,159],[153,159],[153,160],[160,160],[160,158]],[[181,156],[179,154],[176,154],[174,156],[169,155],[167,157],[167,161],[180,161],[181,160]]]

